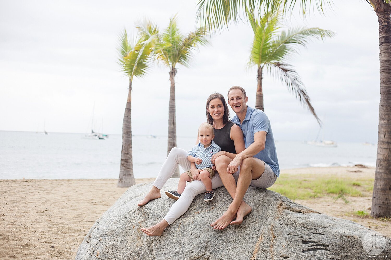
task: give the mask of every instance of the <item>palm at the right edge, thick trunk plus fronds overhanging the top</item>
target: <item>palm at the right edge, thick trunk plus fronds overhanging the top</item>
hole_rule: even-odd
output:
[[[357,1],[358,2],[358,1]],[[379,138],[371,216],[391,217],[391,1],[366,0],[378,16],[380,56]],[[227,27],[239,19],[240,10],[280,9],[292,11],[297,5],[306,14],[316,7],[324,12],[332,0],[198,0],[197,17],[201,24]]]

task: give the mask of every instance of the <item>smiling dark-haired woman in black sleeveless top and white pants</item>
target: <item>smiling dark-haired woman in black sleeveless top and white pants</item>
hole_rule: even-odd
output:
[[[230,111],[228,110],[228,106],[224,97],[220,93],[215,92],[208,97],[206,102],[206,118],[215,131],[215,138],[213,141],[221,147],[221,152],[215,154],[212,161],[221,156],[225,158],[224,161],[229,163],[230,160],[235,158],[236,154],[245,149],[242,130],[239,126],[230,121],[229,115]],[[170,211],[163,220],[156,225],[141,229],[142,232],[147,235],[161,235],[167,226],[171,225],[172,222],[187,211],[196,195],[206,192],[205,186],[199,178],[200,170],[195,168],[195,163],[190,163],[187,160],[187,155],[188,151],[174,147],[169,156],[167,156],[166,161],[163,163],[151,190],[145,198],[137,204],[138,206],[145,205],[151,200],[160,198],[160,189],[172,176],[172,174],[174,174],[178,164],[184,170],[190,169],[192,172],[192,176],[195,181],[187,184],[185,190],[179,199],[172,205]],[[228,163],[226,163],[225,168],[228,166]],[[219,168],[222,169],[224,166]],[[222,181],[219,174],[216,173],[212,178],[212,188],[216,189],[221,186],[223,186]]]

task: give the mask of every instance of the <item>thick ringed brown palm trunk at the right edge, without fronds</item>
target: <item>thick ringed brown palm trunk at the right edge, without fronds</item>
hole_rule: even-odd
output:
[[[391,217],[391,7],[382,4],[382,10],[376,12],[379,20],[380,104],[371,210],[371,216],[376,218]]]

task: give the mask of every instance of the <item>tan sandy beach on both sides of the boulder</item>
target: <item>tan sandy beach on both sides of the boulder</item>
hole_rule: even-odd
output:
[[[335,167],[283,170],[281,175],[370,179],[374,173],[374,168]],[[116,184],[115,179],[0,180],[0,259],[74,259],[93,223],[126,191]],[[389,221],[353,213],[370,212],[371,192],[346,199],[349,203],[328,196],[295,202],[391,237]]]

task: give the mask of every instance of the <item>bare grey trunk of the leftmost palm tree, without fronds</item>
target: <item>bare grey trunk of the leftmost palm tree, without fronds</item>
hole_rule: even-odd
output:
[[[130,187],[135,185],[133,175],[133,155],[132,155],[132,81],[129,79],[129,92],[122,123],[122,152],[120,176],[117,187]]]

